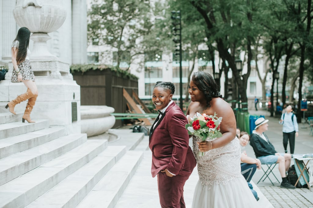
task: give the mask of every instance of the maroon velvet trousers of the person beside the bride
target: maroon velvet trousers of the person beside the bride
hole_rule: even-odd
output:
[[[168,177],[160,172],[157,175],[160,204],[162,208],[186,208],[183,192],[189,176],[175,175]]]

